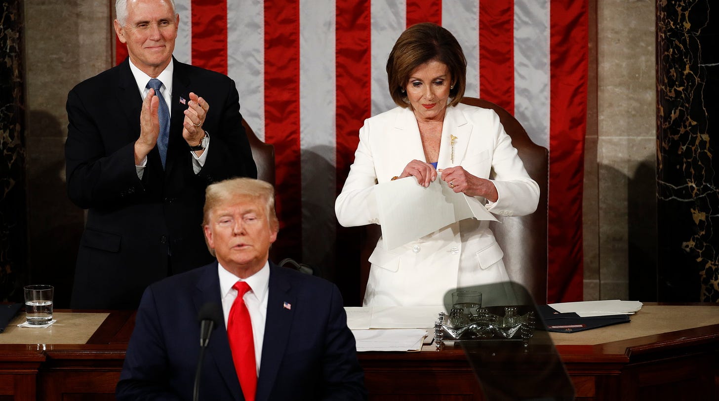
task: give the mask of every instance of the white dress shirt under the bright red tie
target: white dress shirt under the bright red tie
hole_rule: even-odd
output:
[[[255,366],[259,377],[262,340],[265,338],[265,319],[267,318],[267,292],[270,289],[270,264],[265,262],[265,266],[259,272],[244,280],[228,272],[219,262],[217,263],[217,271],[220,278],[220,295],[225,327],[227,327],[229,310],[232,309],[232,304],[237,298],[237,290],[232,286],[238,281],[247,282],[247,285],[249,285],[250,290],[244,293],[242,299],[249,311],[249,321],[252,322],[252,338],[255,340]]]

